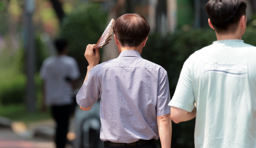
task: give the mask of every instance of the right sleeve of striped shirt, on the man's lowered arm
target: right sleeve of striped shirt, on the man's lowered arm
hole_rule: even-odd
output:
[[[157,94],[157,116],[170,114],[170,107],[168,103],[170,102],[170,89],[167,72],[165,75],[161,76],[160,83],[158,85]]]

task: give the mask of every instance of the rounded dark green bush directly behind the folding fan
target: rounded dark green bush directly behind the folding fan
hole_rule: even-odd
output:
[[[88,66],[84,58],[86,46],[98,42],[106,28],[107,17],[100,4],[85,3],[63,20],[61,37],[68,39],[69,55],[78,61],[82,75],[86,75]]]

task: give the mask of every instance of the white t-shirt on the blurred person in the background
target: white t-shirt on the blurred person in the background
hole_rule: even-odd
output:
[[[72,103],[72,86],[66,80],[76,80],[80,72],[76,60],[68,56],[47,58],[40,70],[45,81],[45,103],[47,105],[68,105]]]

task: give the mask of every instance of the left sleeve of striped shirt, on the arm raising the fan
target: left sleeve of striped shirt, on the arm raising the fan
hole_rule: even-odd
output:
[[[76,102],[79,106],[88,108],[94,105],[99,98],[100,90],[91,72],[88,73],[88,79],[84,82],[76,95]]]

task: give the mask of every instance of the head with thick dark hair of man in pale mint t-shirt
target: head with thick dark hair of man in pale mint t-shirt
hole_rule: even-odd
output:
[[[234,34],[240,29],[246,30],[246,1],[245,0],[209,0],[206,12],[210,18],[210,27],[217,34]]]

